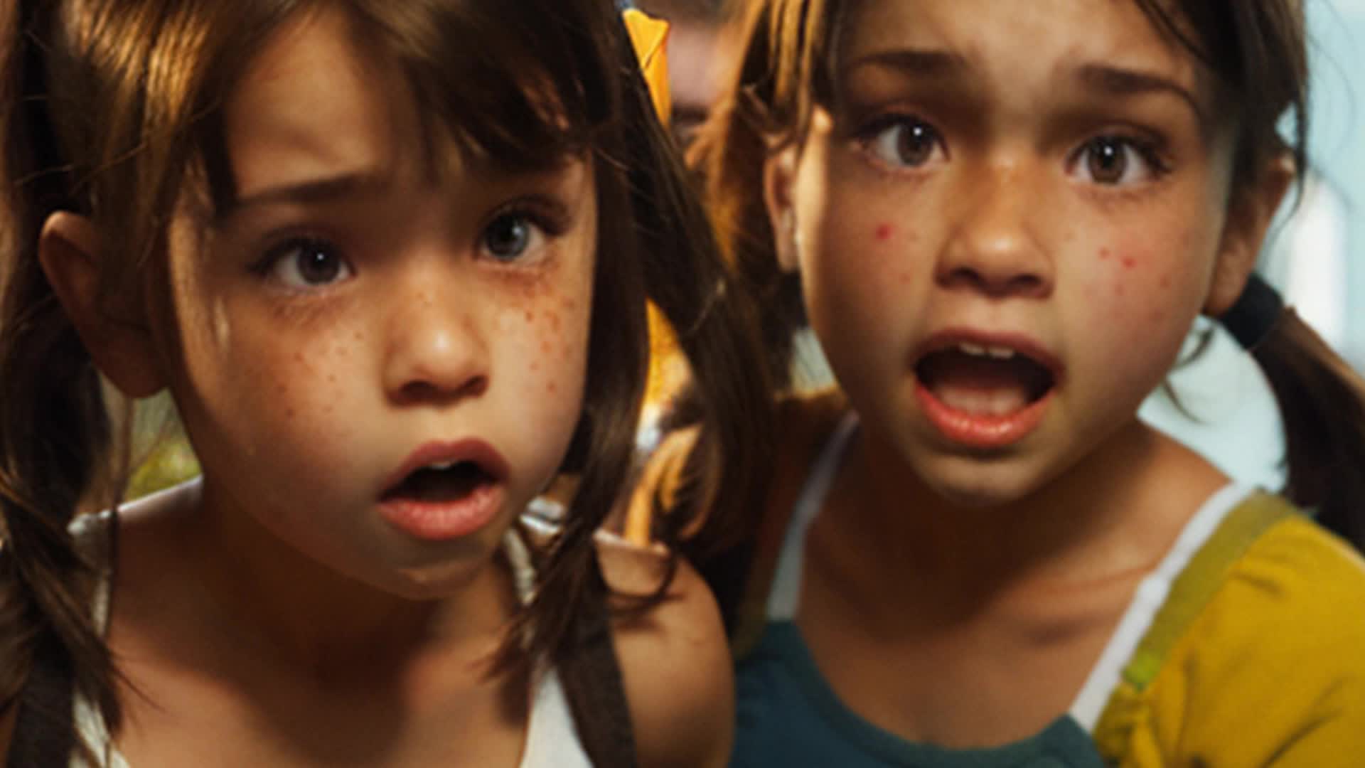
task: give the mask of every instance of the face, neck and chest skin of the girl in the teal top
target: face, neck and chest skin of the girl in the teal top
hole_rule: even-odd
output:
[[[1237,294],[1268,213],[1228,206],[1212,83],[1133,3],[852,8],[835,94],[766,182],[861,425],[797,623],[874,724],[1006,743],[1066,711],[1137,579],[1226,482],[1136,411]],[[1250,194],[1272,210],[1282,189]],[[972,444],[924,406],[925,346],[962,333],[1055,362],[1018,437]]]

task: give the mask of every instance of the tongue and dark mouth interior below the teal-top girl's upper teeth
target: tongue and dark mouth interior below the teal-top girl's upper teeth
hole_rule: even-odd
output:
[[[1029,383],[1010,361],[964,354],[932,355],[920,380],[950,409],[977,415],[1007,415],[1032,400]]]

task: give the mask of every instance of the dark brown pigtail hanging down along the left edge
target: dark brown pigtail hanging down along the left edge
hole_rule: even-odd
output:
[[[46,12],[25,3],[5,41],[0,264],[0,707],[14,705],[42,648],[76,690],[117,723],[113,668],[87,609],[90,568],[67,523],[101,477],[111,444],[100,380],[37,258],[46,216],[63,205],[46,119],[45,71],[33,40]],[[51,4],[49,4],[51,7]],[[53,717],[66,713],[40,713]]]

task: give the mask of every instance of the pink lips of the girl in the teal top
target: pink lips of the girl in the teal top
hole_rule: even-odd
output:
[[[923,383],[916,381],[915,396],[924,409],[924,415],[931,425],[950,441],[960,445],[981,450],[1005,448],[1018,443],[1032,433],[1047,414],[1047,407],[1052,402],[1052,394],[1062,381],[1063,368],[1057,357],[1041,344],[1028,336],[1018,333],[988,333],[980,331],[943,331],[930,336],[915,355],[920,361],[924,355],[958,344],[975,344],[979,347],[1005,347],[1016,354],[1022,354],[1033,362],[1047,368],[1052,374],[1052,387],[1041,398],[1033,400],[1013,413],[984,414],[954,409],[938,399]]]

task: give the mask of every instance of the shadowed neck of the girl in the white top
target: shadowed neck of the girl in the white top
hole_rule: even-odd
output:
[[[192,559],[224,642],[329,687],[397,682],[404,668],[487,660],[516,607],[498,558],[450,596],[412,600],[299,552],[203,481]]]

